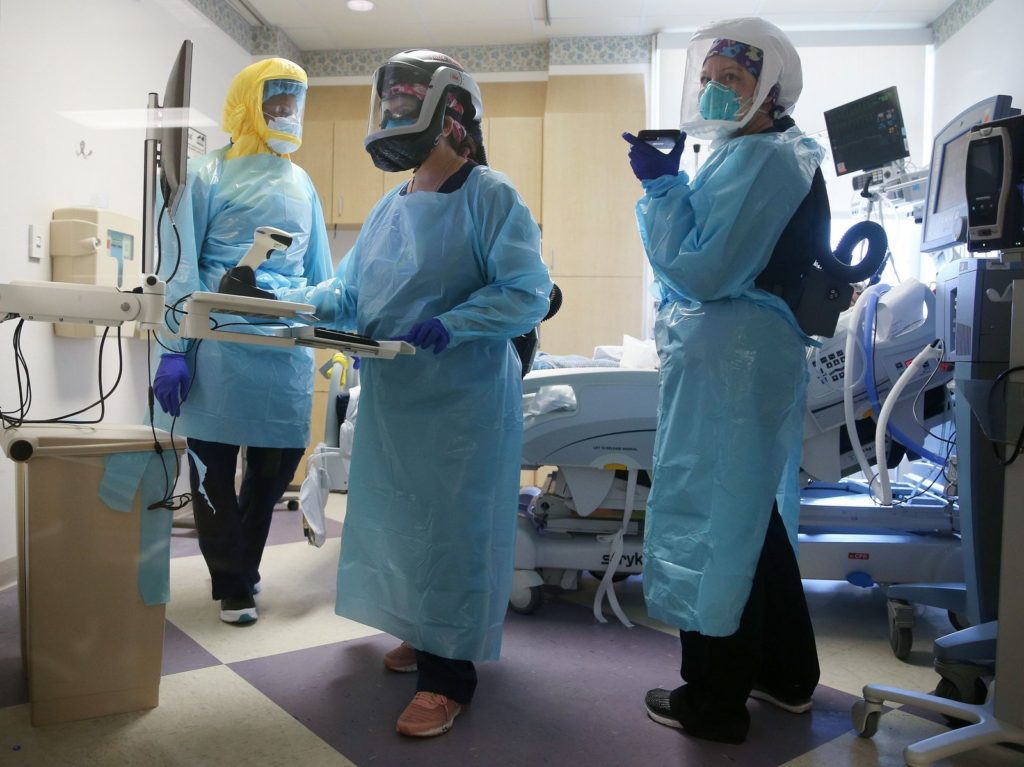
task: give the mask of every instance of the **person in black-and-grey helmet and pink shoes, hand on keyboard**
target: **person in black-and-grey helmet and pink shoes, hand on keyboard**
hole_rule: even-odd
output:
[[[416,671],[397,721],[446,731],[495,661],[512,585],[522,384],[511,339],[548,309],[540,230],[486,165],[473,80],[406,51],[381,67],[366,148],[415,169],[377,204],[338,267],[337,325],[401,338],[415,355],[365,358],[338,568],[338,614],[402,640]]]

